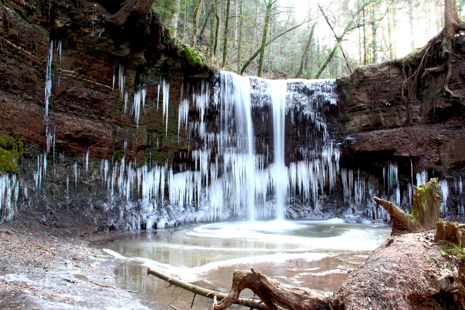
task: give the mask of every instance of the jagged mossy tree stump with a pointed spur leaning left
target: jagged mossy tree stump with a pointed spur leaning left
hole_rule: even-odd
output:
[[[391,216],[392,232],[396,231],[422,231],[436,228],[441,211],[441,191],[438,179],[432,178],[428,183],[415,188],[413,195],[412,213],[400,210],[390,201],[372,197]]]

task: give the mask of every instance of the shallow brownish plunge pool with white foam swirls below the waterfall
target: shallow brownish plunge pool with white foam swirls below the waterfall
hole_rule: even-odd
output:
[[[251,267],[287,284],[338,290],[347,270],[361,264],[391,233],[388,226],[323,221],[225,221],[182,224],[167,230],[128,232],[92,244],[115,256],[117,283],[138,290],[151,309],[191,306],[193,293],[167,289],[146,275],[155,268],[184,281],[228,293],[234,270]],[[241,296],[252,296],[244,290]],[[211,309],[212,300],[195,297],[193,309]],[[171,308],[170,308],[171,309]]]

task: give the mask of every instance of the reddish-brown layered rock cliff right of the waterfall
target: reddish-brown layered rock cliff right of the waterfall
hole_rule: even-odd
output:
[[[461,93],[464,53],[460,48],[455,52],[449,87]],[[424,67],[435,66],[441,59],[427,59],[419,69],[417,55],[419,50],[404,59],[358,67],[341,79],[345,99],[339,104],[339,125],[348,139],[347,152],[353,154],[342,165],[383,182],[385,161],[397,163],[404,209],[411,204],[412,184],[439,177],[446,200],[442,215],[463,216],[463,105],[445,94],[445,72],[421,77]]]

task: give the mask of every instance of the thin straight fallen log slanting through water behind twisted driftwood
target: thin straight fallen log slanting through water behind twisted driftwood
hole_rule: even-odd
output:
[[[177,287],[180,287],[182,289],[185,289],[185,290],[188,290],[190,292],[193,292],[195,294],[199,294],[201,296],[205,296],[205,297],[209,297],[209,298],[214,298],[216,297],[217,300],[223,300],[225,299],[226,297],[228,297],[227,294],[224,294],[224,293],[221,293],[221,292],[218,292],[218,291],[215,291],[215,290],[207,290],[207,289],[204,289],[203,287],[200,287],[200,286],[197,286],[197,285],[193,285],[193,284],[190,284],[188,282],[185,282],[185,281],[181,281],[175,277],[172,277],[170,275],[167,275],[166,273],[163,273],[159,270],[155,270],[155,269],[152,269],[152,268],[147,268],[147,276],[148,275],[153,275],[155,277],[158,277],[162,280],[165,280],[166,282],[168,282],[171,285],[174,285],[174,286],[177,286]],[[247,306],[247,307],[250,307],[252,309],[258,309],[258,310],[269,310],[265,304],[263,304],[262,302],[258,301],[256,298],[247,298],[247,297],[239,297],[239,298],[236,298],[235,299],[235,302],[233,303],[236,303],[236,304],[240,304],[240,305],[243,305],[243,306]]]

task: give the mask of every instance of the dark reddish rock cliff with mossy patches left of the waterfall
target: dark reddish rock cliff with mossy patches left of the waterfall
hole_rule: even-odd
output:
[[[140,228],[137,204],[108,197],[105,159],[171,163],[195,145],[185,132],[178,139],[180,85],[214,73],[191,49],[174,46],[157,16],[120,29],[104,23],[110,14],[90,1],[0,2],[0,138],[24,143],[17,178],[2,176],[2,218]],[[138,91],[145,106],[136,124]]]

